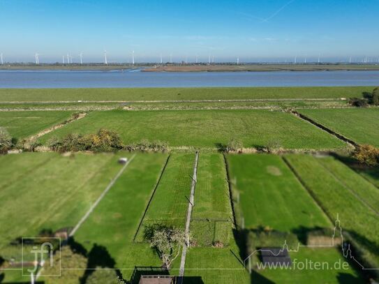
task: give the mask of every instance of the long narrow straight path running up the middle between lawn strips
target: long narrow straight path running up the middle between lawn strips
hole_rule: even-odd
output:
[[[190,200],[188,202],[186,231],[185,231],[186,236],[188,236],[189,234],[189,227],[191,224],[191,214],[192,214],[192,209],[193,209],[193,200],[194,200],[194,195],[195,195],[195,186],[196,186],[196,183],[198,182],[198,161],[199,161],[199,151],[196,151],[195,164],[193,165],[191,195],[190,195]],[[188,246],[189,244],[187,243],[186,246],[183,246],[183,249],[181,251],[181,260],[180,260],[180,268],[179,268],[179,283],[180,284],[182,284],[184,281],[184,269],[186,268],[186,256],[187,256]]]

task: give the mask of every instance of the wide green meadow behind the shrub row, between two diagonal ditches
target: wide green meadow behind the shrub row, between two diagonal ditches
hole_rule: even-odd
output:
[[[285,112],[268,110],[183,110],[91,112],[78,121],[41,137],[68,133],[94,133],[99,128],[116,130],[126,144],[161,140],[170,146],[216,148],[230,140],[244,147],[275,144],[287,149],[336,149],[344,143],[333,135]]]

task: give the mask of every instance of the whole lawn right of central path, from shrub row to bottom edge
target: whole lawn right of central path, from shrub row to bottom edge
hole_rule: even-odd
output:
[[[188,250],[185,283],[249,283],[233,237],[232,208],[223,156],[200,154],[190,230],[196,242]],[[211,247],[221,242],[223,248]],[[234,254],[233,254],[234,253]],[[193,279],[191,278],[193,277]]]

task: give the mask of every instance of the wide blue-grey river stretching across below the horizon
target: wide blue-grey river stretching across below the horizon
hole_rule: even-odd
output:
[[[376,86],[379,71],[0,70],[0,88]]]

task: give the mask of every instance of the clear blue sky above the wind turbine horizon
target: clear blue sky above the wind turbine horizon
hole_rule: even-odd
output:
[[[0,0],[6,61],[379,59],[379,0]]]

